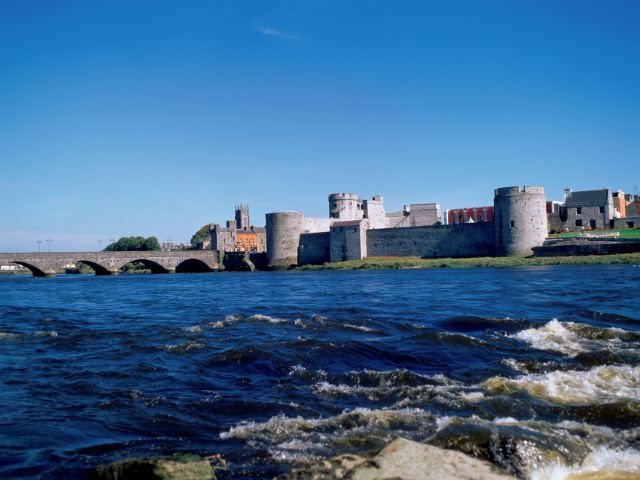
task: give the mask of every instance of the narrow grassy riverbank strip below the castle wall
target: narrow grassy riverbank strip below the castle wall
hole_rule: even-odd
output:
[[[382,268],[474,268],[474,267],[531,267],[540,265],[640,265],[640,253],[590,255],[571,257],[478,257],[478,258],[420,258],[368,257],[362,260],[305,265],[297,270],[357,270]]]

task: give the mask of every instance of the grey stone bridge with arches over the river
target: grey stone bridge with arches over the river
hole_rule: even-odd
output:
[[[17,263],[36,277],[53,276],[77,262],[91,267],[96,275],[116,275],[131,262],[142,262],[152,273],[211,272],[219,268],[217,250],[177,252],[69,252],[0,253],[0,263]]]

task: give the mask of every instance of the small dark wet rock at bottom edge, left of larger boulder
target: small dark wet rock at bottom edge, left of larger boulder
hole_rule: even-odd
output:
[[[195,455],[128,458],[96,467],[100,480],[213,480],[215,471],[208,459]]]

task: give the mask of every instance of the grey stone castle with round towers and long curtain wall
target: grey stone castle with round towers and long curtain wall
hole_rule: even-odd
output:
[[[495,190],[491,222],[441,224],[434,203],[386,213],[384,199],[329,195],[329,217],[303,212],[266,215],[269,265],[318,264],[368,256],[477,257],[531,255],[547,237],[543,187]]]

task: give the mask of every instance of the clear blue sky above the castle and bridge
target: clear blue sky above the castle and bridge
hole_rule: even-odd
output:
[[[0,0],[0,251],[640,184],[640,2]]]

